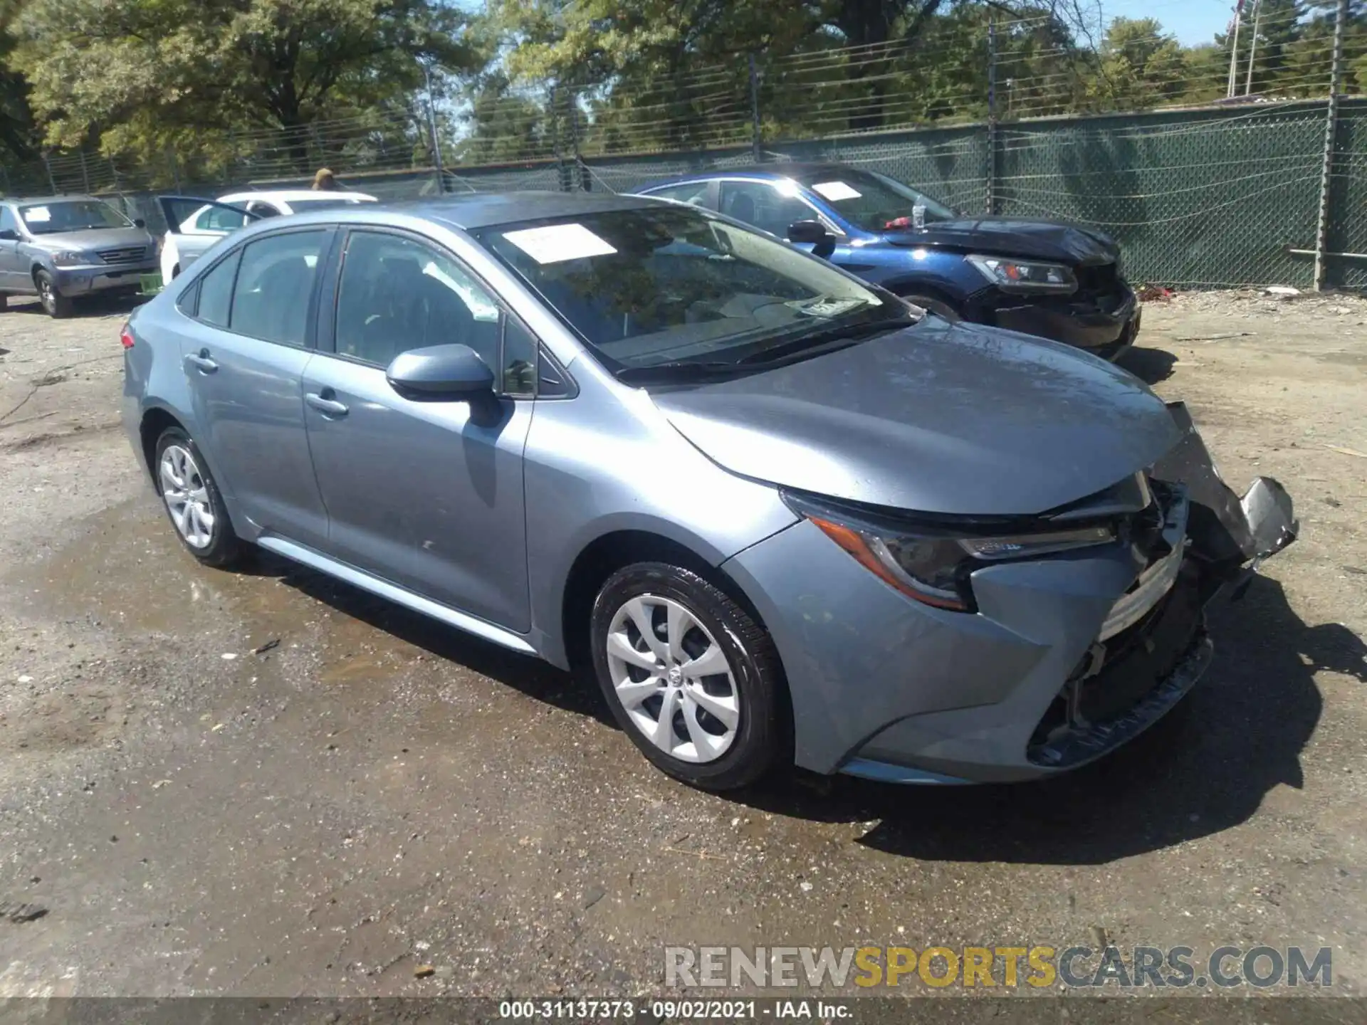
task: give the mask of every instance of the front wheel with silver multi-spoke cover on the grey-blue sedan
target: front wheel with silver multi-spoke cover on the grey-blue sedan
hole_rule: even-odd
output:
[[[709,581],[662,562],[627,566],[603,585],[589,629],[612,715],[658,768],[733,790],[787,756],[774,641]]]

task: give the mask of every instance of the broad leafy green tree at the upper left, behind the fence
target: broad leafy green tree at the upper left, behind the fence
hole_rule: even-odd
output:
[[[310,126],[402,111],[421,59],[466,66],[462,20],[437,0],[30,0],[12,64],[52,145],[98,137],[107,150],[190,148],[213,164],[235,135],[275,130],[306,172]]]

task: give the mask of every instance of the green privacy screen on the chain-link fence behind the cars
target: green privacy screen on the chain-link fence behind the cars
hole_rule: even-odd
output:
[[[1314,287],[1326,102],[1012,122],[990,128],[883,131],[802,141],[764,139],[766,161],[830,160],[915,184],[966,213],[1094,224],[1124,247],[1132,282],[1188,288]],[[1331,145],[1325,250],[1327,287],[1367,288],[1367,100],[1342,98]],[[699,153],[576,157],[521,164],[366,171],[334,167],[383,200],[515,189],[630,191],[694,169],[753,163],[750,146]],[[160,228],[145,180],[89,157],[7,168],[8,193],[97,191]],[[139,187],[139,184],[142,187]],[[301,179],[178,182],[216,197]],[[1295,253],[1293,250],[1305,250]]]

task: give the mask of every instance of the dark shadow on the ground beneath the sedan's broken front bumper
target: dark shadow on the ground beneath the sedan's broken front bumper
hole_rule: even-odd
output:
[[[935,861],[1105,864],[1245,821],[1273,787],[1301,789],[1300,752],[1319,722],[1316,671],[1367,682],[1367,645],[1338,623],[1304,623],[1278,582],[1256,577],[1210,615],[1215,661],[1196,690],[1133,743],[1035,783],[895,787],[835,778],[746,795],[823,821],[879,820],[861,843]]]

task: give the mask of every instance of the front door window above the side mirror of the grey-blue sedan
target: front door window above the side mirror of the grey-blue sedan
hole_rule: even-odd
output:
[[[498,303],[454,260],[416,239],[353,231],[338,286],[336,351],[388,366],[410,348],[465,344],[499,369]]]

